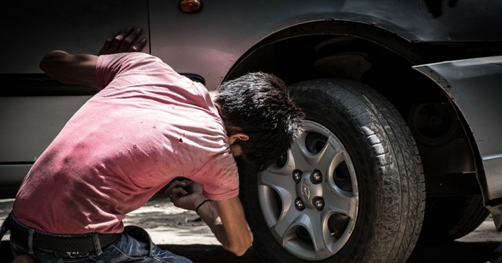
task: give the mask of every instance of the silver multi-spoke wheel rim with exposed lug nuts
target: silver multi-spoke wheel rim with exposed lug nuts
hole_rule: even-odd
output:
[[[348,151],[329,129],[309,120],[287,154],[258,177],[265,223],[292,255],[323,260],[348,242],[358,187]]]

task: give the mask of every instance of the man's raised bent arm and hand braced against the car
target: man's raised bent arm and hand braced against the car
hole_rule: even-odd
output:
[[[121,52],[139,52],[145,45],[145,38],[139,39],[143,30],[132,26],[106,39],[99,55]],[[92,54],[68,54],[53,50],[40,61],[40,69],[48,76],[66,84],[96,87],[96,63],[98,57]]]

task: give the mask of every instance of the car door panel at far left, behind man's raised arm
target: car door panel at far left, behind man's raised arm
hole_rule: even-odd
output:
[[[148,36],[148,5],[146,1],[18,1],[1,13],[5,38],[4,63],[0,63],[0,182],[10,185],[21,182],[32,162],[91,96],[34,76],[43,73],[41,58],[50,50],[97,54],[106,36],[127,25],[143,27]],[[59,92],[54,92],[55,86]]]

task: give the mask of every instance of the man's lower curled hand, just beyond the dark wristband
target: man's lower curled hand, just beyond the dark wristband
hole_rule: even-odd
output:
[[[174,206],[193,210],[204,200],[202,186],[191,180],[174,180],[165,189],[165,193],[171,198]]]

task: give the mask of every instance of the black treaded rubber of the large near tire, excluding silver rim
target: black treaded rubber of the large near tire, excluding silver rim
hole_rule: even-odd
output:
[[[241,167],[241,200],[254,249],[264,262],[273,263],[406,262],[421,231],[425,183],[419,151],[402,116],[356,81],[318,79],[291,90],[306,120],[327,127],[348,151],[359,191],[357,220],[352,232],[344,233],[350,238],[339,251],[321,260],[302,260],[277,242],[263,218],[260,174]]]

